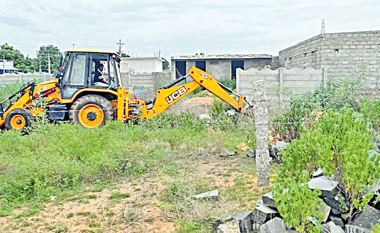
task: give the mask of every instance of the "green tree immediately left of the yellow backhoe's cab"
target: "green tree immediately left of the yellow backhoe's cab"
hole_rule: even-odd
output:
[[[41,61],[41,68],[48,69],[48,56],[50,54],[50,69],[51,72],[57,71],[59,68],[59,60],[61,53],[55,46],[41,46],[40,51],[37,51],[37,58]]]

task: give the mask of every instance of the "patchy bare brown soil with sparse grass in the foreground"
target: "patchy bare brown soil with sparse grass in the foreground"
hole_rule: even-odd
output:
[[[178,221],[210,221],[211,216],[223,218],[253,209],[260,195],[269,190],[257,186],[254,166],[254,160],[244,155],[217,156],[178,174],[145,176],[52,200],[32,216],[19,217],[26,209],[15,209],[12,215],[0,217],[0,232],[176,232],[181,227]],[[175,182],[183,185],[178,188],[182,190],[188,186],[197,187],[191,190],[218,188],[220,197],[198,201],[186,192],[176,195],[172,191]]]

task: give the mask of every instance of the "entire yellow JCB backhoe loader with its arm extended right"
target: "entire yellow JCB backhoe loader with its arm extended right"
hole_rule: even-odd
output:
[[[237,111],[246,111],[243,96],[196,67],[188,75],[157,90],[154,100],[132,99],[131,93],[125,91],[121,83],[120,60],[120,56],[112,51],[67,51],[61,57],[56,79],[38,84],[28,83],[19,92],[0,102],[0,127],[24,130],[30,126],[31,118],[39,112],[32,108],[32,101],[37,98],[47,99],[50,120],[69,120],[86,128],[102,126],[107,120],[138,119],[139,110],[142,119],[153,118],[201,86]],[[178,85],[189,76],[194,81]],[[229,93],[236,95],[238,101]]]

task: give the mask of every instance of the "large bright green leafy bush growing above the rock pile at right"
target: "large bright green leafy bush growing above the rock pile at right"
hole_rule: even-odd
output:
[[[297,177],[304,169],[311,176],[316,167],[321,167],[325,175],[333,174],[345,190],[345,217],[350,221],[354,209],[361,211],[373,197],[365,187],[380,175],[380,156],[370,155],[368,150],[372,148],[370,132],[359,113],[348,106],[341,113],[329,110],[311,132],[301,133],[300,139],[283,150],[279,180]]]

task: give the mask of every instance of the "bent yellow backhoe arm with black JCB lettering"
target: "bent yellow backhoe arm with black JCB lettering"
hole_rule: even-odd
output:
[[[176,84],[186,80],[186,78],[189,76],[192,77],[194,81],[175,86]],[[188,75],[181,77],[170,83],[168,86],[157,90],[157,97],[155,99],[154,106],[149,112],[147,112],[146,105],[143,103],[141,118],[153,118],[159,115],[171,105],[177,103],[179,100],[183,99],[185,96],[192,93],[201,86],[209,90],[221,100],[231,105],[237,111],[245,113],[245,109],[243,108],[245,101],[244,96],[240,96],[237,93],[233,92],[225,85],[219,83],[216,79],[214,79],[214,77],[205,71],[193,67],[189,71]],[[231,97],[229,93],[236,95],[238,97],[238,101]]]

